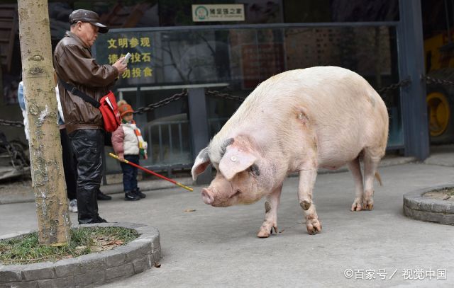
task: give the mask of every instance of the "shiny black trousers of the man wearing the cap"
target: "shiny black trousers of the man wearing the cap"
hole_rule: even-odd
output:
[[[99,223],[96,199],[102,179],[104,130],[78,129],[69,134],[77,159],[77,210],[79,224]]]

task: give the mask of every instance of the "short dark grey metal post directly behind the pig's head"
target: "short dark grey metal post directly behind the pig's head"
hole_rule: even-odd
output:
[[[188,89],[189,127],[192,132],[192,155],[194,160],[201,149],[209,143],[208,112],[206,110],[205,89]],[[211,182],[211,166],[199,175],[197,184]]]

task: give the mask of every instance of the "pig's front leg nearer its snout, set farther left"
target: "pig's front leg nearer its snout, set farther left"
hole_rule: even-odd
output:
[[[282,185],[267,196],[267,200],[265,201],[265,221],[263,221],[263,224],[258,231],[258,238],[269,237],[273,228],[277,234],[277,206],[279,206],[281,192]]]

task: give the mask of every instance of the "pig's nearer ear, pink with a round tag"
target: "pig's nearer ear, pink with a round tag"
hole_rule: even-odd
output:
[[[219,171],[227,180],[232,178],[241,171],[245,171],[257,160],[253,154],[248,151],[238,149],[237,146],[228,146],[226,154],[219,162]]]

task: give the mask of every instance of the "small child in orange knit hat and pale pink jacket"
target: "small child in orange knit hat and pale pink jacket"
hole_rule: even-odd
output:
[[[125,100],[118,101],[121,125],[112,133],[112,146],[121,161],[125,159],[138,164],[139,156],[147,159],[147,142],[143,141],[140,129],[133,120],[133,108]],[[137,168],[121,162],[123,171],[123,189],[125,201],[136,201],[145,198],[145,194],[137,187]]]

